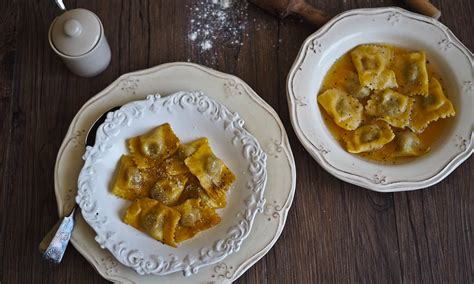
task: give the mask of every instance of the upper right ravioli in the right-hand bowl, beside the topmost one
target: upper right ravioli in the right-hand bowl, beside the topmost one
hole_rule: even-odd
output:
[[[397,55],[394,61],[398,91],[414,96],[428,95],[428,71],[424,52]]]

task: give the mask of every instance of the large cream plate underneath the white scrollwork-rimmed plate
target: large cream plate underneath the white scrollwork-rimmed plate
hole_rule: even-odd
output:
[[[183,80],[182,78],[186,78]],[[147,94],[163,95],[179,90],[202,90],[207,96],[238,112],[245,120],[245,129],[258,139],[267,153],[266,200],[262,214],[256,214],[254,225],[240,250],[225,260],[199,269],[197,274],[182,273],[164,276],[139,275],[116,261],[95,241],[95,231],[81,214],[76,215],[72,244],[107,280],[119,283],[202,283],[234,281],[262,258],[274,245],[283,230],[295,190],[295,164],[288,138],[277,114],[242,80],[235,76],[190,63],[170,63],[121,76],[109,87],[91,98],[79,110],[64,138],[55,166],[55,191],[59,215],[74,205],[84,140],[94,121],[112,107]],[[265,131],[260,131],[265,129]]]

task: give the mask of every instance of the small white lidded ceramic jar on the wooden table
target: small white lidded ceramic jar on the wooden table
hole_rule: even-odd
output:
[[[56,17],[49,27],[48,38],[51,48],[76,75],[96,76],[110,63],[104,27],[89,10],[68,10]]]

